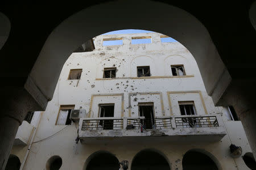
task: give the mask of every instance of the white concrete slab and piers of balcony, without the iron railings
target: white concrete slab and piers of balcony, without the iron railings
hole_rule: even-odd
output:
[[[205,127],[205,128],[176,128],[175,117],[204,117],[204,116],[216,116],[218,121],[218,127]],[[162,117],[160,117],[162,118]],[[79,137],[81,142],[93,143],[93,142],[106,142],[115,139],[115,141],[139,141],[144,140],[144,138],[152,138],[154,141],[157,141],[157,138],[160,140],[167,141],[220,141],[225,135],[226,130],[222,118],[218,114],[214,115],[191,115],[191,116],[172,116],[164,117],[170,118],[172,127],[165,127],[162,129],[146,129],[141,132],[141,128],[135,127],[135,129],[125,129],[127,119],[133,119],[132,117],[123,118],[123,128],[113,129],[113,130],[81,130],[83,120],[103,120],[102,118],[81,118],[79,126]],[[106,120],[114,120],[115,118],[105,118]],[[89,122],[88,122],[89,123]],[[89,123],[90,124],[90,123]]]

